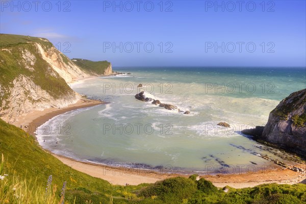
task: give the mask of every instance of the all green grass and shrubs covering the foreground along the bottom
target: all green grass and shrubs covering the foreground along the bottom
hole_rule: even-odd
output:
[[[38,145],[27,132],[0,120],[0,157],[5,162],[0,179],[0,203],[29,200],[58,203],[66,183],[65,203],[306,203],[306,185],[260,185],[254,188],[217,189],[196,175],[176,177],[138,186],[116,186],[71,169]],[[0,165],[2,166],[2,165]],[[1,168],[0,168],[1,169]],[[52,186],[46,184],[52,175]],[[46,193],[47,196],[45,195]],[[46,197],[46,198],[45,198]],[[19,200],[18,200],[19,199]]]

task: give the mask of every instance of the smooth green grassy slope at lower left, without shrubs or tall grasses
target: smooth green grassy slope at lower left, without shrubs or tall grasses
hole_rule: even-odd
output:
[[[109,196],[113,195],[115,203],[126,203],[123,193],[126,191],[122,186],[114,186],[106,180],[94,178],[85,173],[76,171],[64,165],[57,158],[41,149],[35,138],[20,128],[9,125],[0,119],[0,153],[3,153],[10,167],[17,174],[45,186],[48,176],[53,175],[53,183],[58,187],[67,181],[66,200],[73,203],[74,196],[78,199],[97,200],[102,203],[109,202]],[[136,187],[129,187],[131,191]],[[137,187],[138,189],[141,186]],[[137,189],[136,188],[136,189]],[[79,189],[79,190],[77,190]],[[60,189],[59,189],[60,190]],[[58,190],[58,191],[59,191]],[[80,203],[80,202],[77,202]]]

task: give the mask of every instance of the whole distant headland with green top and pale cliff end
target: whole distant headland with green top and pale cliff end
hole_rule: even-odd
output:
[[[73,58],[72,61],[80,66],[83,71],[91,75],[114,75],[112,64],[108,61],[90,61],[87,59]]]

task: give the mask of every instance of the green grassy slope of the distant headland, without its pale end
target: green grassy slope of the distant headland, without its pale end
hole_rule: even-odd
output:
[[[78,58],[73,58],[72,60],[75,64],[80,66],[87,73],[93,73],[97,75],[104,74],[104,71],[111,64],[108,61],[96,61],[95,62],[95,61],[90,61],[87,59],[78,59]],[[77,60],[77,61],[74,61],[74,60]]]

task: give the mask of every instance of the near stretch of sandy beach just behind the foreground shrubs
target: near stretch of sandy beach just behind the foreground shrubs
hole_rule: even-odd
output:
[[[192,174],[162,173],[152,170],[133,169],[127,167],[113,167],[90,162],[81,162],[63,155],[49,152],[58,160],[68,165],[70,168],[81,171],[93,177],[107,180],[113,185],[124,186],[139,185],[142,183],[152,184],[160,180],[171,177],[186,177]],[[305,180],[305,176],[285,168],[276,168],[272,170],[258,171],[252,173],[238,174],[216,174],[199,175],[199,178],[205,178],[218,188],[230,186],[232,188],[251,188],[261,184],[297,184]]]

